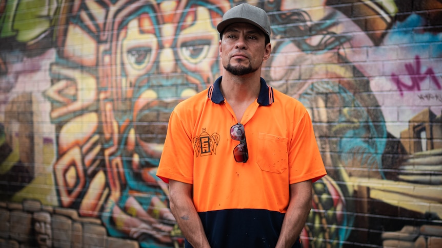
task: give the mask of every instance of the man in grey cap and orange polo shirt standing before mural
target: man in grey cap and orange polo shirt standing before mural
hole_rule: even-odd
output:
[[[312,182],[326,174],[311,119],[260,78],[264,10],[238,5],[217,30],[223,76],[175,107],[157,176],[186,247],[300,247]]]

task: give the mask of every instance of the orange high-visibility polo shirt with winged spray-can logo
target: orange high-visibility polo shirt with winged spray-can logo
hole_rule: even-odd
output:
[[[272,226],[277,240],[289,203],[289,185],[309,179],[314,182],[326,175],[310,116],[299,101],[261,79],[257,100],[242,120],[236,120],[220,92],[220,82],[221,77],[175,107],[157,176],[166,183],[173,179],[193,184],[193,202],[208,236],[219,236],[226,228],[223,225],[236,227],[220,221],[226,211],[234,211],[227,216],[238,221],[248,214],[263,216],[264,211],[271,213],[270,219],[276,218],[277,224],[272,220],[253,224]],[[230,127],[238,122],[245,128],[246,163],[236,162],[233,156],[239,141],[231,139]],[[219,232],[211,231],[215,226]]]

